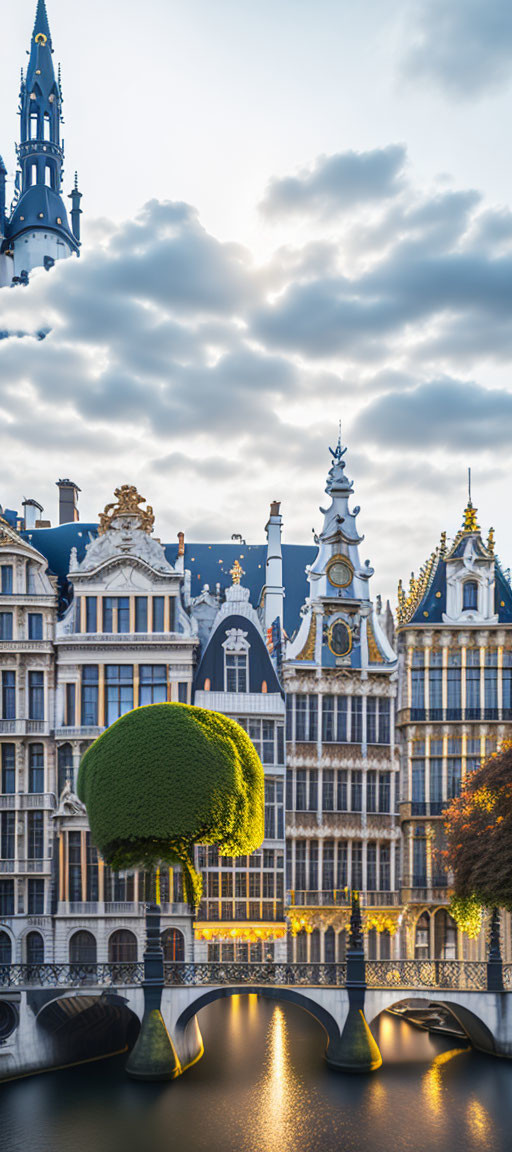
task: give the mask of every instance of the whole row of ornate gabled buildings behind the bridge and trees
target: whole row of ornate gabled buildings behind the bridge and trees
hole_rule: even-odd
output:
[[[265,771],[261,849],[196,849],[194,924],[164,871],[168,958],[341,960],[353,888],[370,957],[482,957],[447,911],[442,812],[511,736],[512,590],[470,501],[394,632],[340,442],[307,547],[281,544],[277,502],[266,544],[173,545],[134,487],[98,523],[58,487],[55,528],[36,500],[0,509],[0,963],[142,955],[144,874],[104,866],[75,787],[107,725],[165,700],[238,720]],[[510,937],[506,917],[506,958]]]

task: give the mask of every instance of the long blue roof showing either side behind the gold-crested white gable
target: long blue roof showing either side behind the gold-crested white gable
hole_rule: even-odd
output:
[[[50,570],[58,576],[62,606],[69,600],[69,553],[77,550],[78,560],[85,555],[85,546],[97,536],[98,525],[81,523],[60,524],[58,528],[35,528],[21,535],[48,561]],[[178,556],[178,544],[164,544],[171,564]],[[314,544],[283,545],[283,582],[285,594],[285,629],[292,636],[300,623],[300,609],[309,593],[306,566],[316,555]],[[205,584],[214,591],[216,584],[226,588],[232,578],[229,569],[239,560],[243,569],[242,582],[250,590],[251,604],[257,607],[265,583],[266,544],[186,544],[185,567],[191,574],[191,594],[198,596]]]

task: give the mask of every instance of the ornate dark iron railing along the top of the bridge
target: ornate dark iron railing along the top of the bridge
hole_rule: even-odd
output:
[[[512,964],[503,965],[505,988],[512,991]],[[0,987],[115,987],[136,986],[144,979],[143,962],[108,964],[0,964]],[[164,963],[166,987],[309,986],[344,987],[346,963]],[[488,965],[465,960],[367,960],[369,988],[485,991]]]

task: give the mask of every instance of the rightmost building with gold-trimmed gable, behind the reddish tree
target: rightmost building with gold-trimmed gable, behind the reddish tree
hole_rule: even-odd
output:
[[[483,940],[462,937],[446,910],[442,813],[466,773],[512,736],[512,590],[470,499],[453,543],[443,533],[408,594],[399,585],[397,639],[408,954],[477,958]]]

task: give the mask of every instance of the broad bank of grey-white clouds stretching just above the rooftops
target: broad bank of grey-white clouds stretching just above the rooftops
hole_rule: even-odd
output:
[[[164,540],[257,541],[280,499],[286,539],[309,543],[341,418],[375,591],[394,589],[398,551],[411,568],[450,530],[452,500],[457,529],[468,452],[512,550],[510,213],[474,189],[413,187],[397,145],[366,157],[311,164],[288,209],[271,183],[279,223],[300,205],[316,230],[265,264],[152,200],[101,220],[78,262],[0,289],[0,502],[33,495],[52,515],[69,475],[89,520],[134,483]]]

